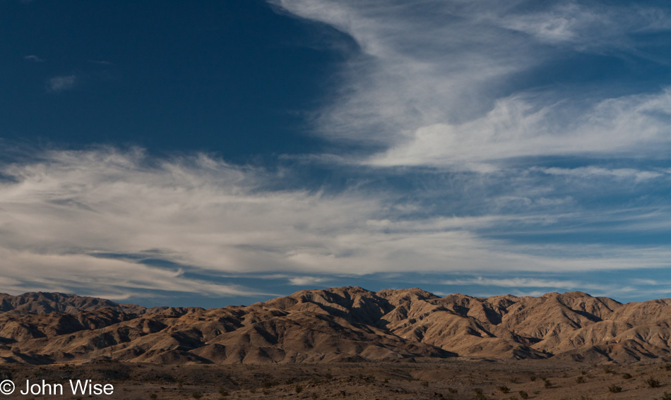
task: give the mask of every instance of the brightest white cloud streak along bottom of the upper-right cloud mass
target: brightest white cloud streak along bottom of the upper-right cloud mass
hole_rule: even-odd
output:
[[[665,90],[606,99],[566,123],[559,117],[565,111],[560,105],[538,109],[512,97],[499,100],[482,118],[419,128],[369,163],[449,166],[511,157],[654,154],[671,145],[670,109],[671,92]]]

